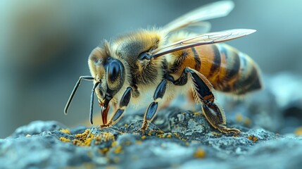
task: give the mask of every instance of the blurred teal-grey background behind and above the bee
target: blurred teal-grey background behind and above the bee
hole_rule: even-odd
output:
[[[163,26],[209,2],[0,1],[0,138],[32,120],[68,126],[88,120],[91,82],[82,82],[68,116],[63,108],[78,77],[89,75],[94,47],[140,27]],[[228,44],[249,54],[265,75],[300,77],[302,1],[234,2],[227,17],[210,20],[212,30],[258,30]],[[279,84],[284,86],[277,89],[287,87]]]

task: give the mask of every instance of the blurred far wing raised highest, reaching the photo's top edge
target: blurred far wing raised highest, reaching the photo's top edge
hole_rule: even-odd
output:
[[[208,29],[210,27],[210,24],[204,24],[201,21],[220,18],[228,15],[233,8],[234,3],[232,1],[217,1],[212,4],[196,8],[194,11],[184,14],[180,16],[180,18],[177,18],[171,23],[168,23],[168,25],[165,25],[165,27],[163,28],[167,32],[180,30],[191,25],[206,26],[206,29]]]

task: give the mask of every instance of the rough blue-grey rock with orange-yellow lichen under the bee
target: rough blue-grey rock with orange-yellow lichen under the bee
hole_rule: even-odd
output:
[[[301,85],[282,88],[297,79],[280,75],[265,82],[280,89],[267,87],[244,101],[221,99],[227,126],[241,130],[238,136],[177,107],[158,112],[145,134],[139,131],[144,111],[101,130],[35,121],[0,139],[0,168],[301,168],[302,94],[285,96]]]

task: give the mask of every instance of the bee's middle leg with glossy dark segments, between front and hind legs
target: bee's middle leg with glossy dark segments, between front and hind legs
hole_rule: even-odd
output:
[[[158,84],[156,91],[153,95],[153,102],[149,105],[144,115],[144,123],[141,126],[141,132],[145,132],[146,128],[149,125],[149,122],[153,120],[156,115],[158,101],[163,99],[163,95],[165,95],[165,89],[167,89],[167,80],[162,80],[160,84]]]

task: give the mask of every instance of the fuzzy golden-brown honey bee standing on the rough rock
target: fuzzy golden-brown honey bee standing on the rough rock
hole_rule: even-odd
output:
[[[239,134],[226,125],[225,113],[215,101],[214,91],[242,96],[261,88],[258,65],[246,54],[220,42],[250,35],[256,30],[234,29],[208,32],[205,20],[227,15],[232,1],[218,1],[182,15],[162,28],[137,30],[104,41],[88,58],[91,76],[81,76],[65,106],[82,80],[92,80],[90,123],[94,93],[101,106],[103,124],[118,122],[130,101],[139,104],[153,93],[153,101],[144,114],[141,132],[156,116],[158,104],[191,92],[208,123],[222,133]],[[108,110],[113,115],[108,120]]]

